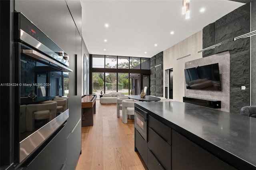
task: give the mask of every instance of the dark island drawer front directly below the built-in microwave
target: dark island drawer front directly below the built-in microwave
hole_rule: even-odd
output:
[[[140,156],[142,157],[146,166],[148,166],[148,143],[135,129],[135,147],[137,148]]]

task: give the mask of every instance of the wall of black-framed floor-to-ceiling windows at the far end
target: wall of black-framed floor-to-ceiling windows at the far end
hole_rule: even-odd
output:
[[[90,93],[123,92],[139,95],[150,79],[150,58],[116,55],[90,55]],[[142,75],[149,77],[142,81]],[[145,85],[144,85],[145,84]]]

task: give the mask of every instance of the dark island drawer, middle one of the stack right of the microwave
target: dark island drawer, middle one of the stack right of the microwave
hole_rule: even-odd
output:
[[[148,127],[148,148],[166,170],[172,168],[171,153],[172,148],[162,137],[160,137],[152,128]]]

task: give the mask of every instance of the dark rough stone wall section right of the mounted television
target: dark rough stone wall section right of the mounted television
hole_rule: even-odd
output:
[[[233,38],[250,32],[250,4],[223,16],[203,29],[203,48],[222,42],[205,51],[203,57],[229,51],[230,53],[230,112],[240,114],[243,106],[250,105],[250,38]],[[241,85],[246,90],[240,90]]]

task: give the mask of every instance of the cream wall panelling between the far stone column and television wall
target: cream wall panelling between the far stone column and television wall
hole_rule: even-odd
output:
[[[166,49],[164,51],[163,57],[163,67],[166,69],[173,69],[173,99],[176,101],[183,101],[184,96],[184,68],[185,62],[192,61],[194,59],[202,58],[202,53],[197,53],[197,51],[202,49],[202,30],[196,34],[186,38],[182,42],[175,44],[174,46]],[[183,57],[185,55],[191,54],[191,56],[176,60],[177,58]],[[165,71],[164,77],[165,77]],[[165,79],[164,79],[165,87]],[[164,88],[163,87],[163,88]],[[165,94],[165,88],[164,88]]]

